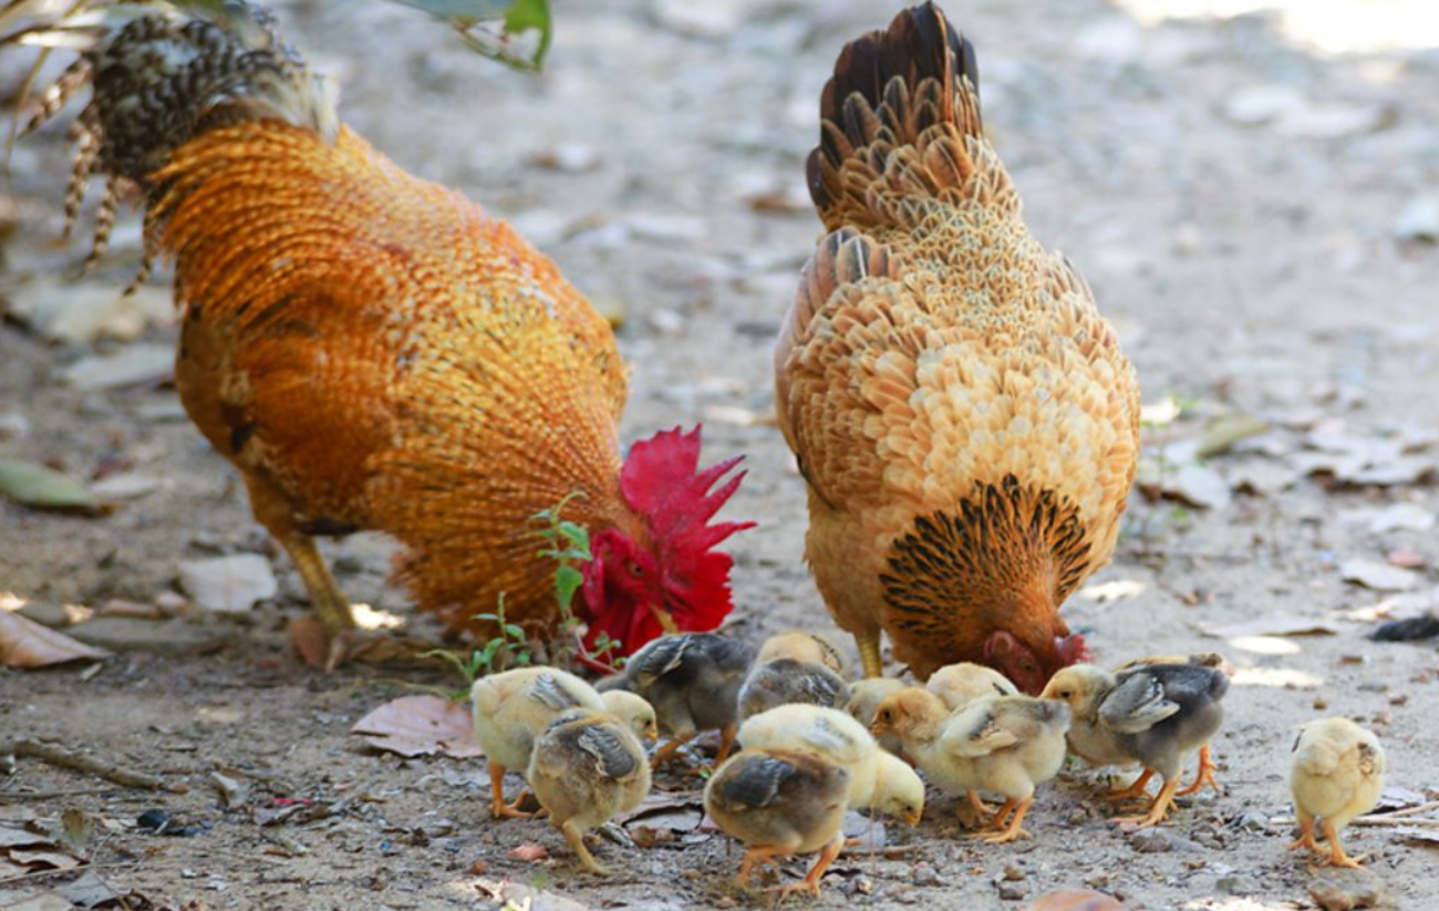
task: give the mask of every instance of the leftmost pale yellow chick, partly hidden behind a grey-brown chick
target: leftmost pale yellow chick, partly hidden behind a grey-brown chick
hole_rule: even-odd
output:
[[[535,738],[571,710],[603,712],[593,686],[555,668],[517,668],[475,681],[469,698],[475,711],[475,741],[489,764],[491,815],[528,817],[524,794],[505,803],[505,770],[527,769]]]

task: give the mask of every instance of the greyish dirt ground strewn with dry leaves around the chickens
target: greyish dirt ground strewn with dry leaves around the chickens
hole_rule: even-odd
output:
[[[800,558],[803,485],[767,419],[770,340],[817,236],[802,163],[820,86],[842,43],[895,4],[688,6],[561,3],[538,78],[502,72],[384,3],[295,0],[279,13],[342,81],[353,127],[512,219],[603,309],[623,312],[627,439],[704,422],[707,459],[747,456],[727,515],[760,525],[730,545],[735,635],[832,629]],[[1105,662],[1229,655],[1239,672],[1215,743],[1223,793],[1186,799],[1166,836],[1132,839],[1108,823],[1099,779],[1072,769],[1042,790],[1033,838],[1010,846],[967,840],[951,802],[931,794],[918,830],[888,828],[895,851],[842,858],[819,907],[1019,907],[1089,884],[1134,907],[1271,911],[1315,907],[1321,881],[1439,907],[1439,853],[1422,840],[1439,823],[1350,829],[1368,872],[1334,876],[1285,851],[1284,822],[1295,727],[1322,714],[1383,737],[1389,806],[1439,797],[1427,724],[1439,655],[1432,642],[1366,638],[1376,616],[1426,610],[1439,592],[1427,484],[1439,466],[1439,225],[1425,226],[1439,214],[1423,201],[1439,193],[1439,27],[1420,0],[1252,6],[950,4],[979,49],[986,122],[1032,229],[1088,276],[1153,406],[1151,495],[1134,494],[1112,566],[1066,615]],[[3,66],[13,91],[17,71]],[[0,740],[45,738],[189,784],[127,789],[20,757],[0,774],[0,825],[83,810],[98,826],[83,852],[131,907],[485,908],[496,904],[486,884],[501,881],[543,889],[535,908],[763,902],[730,887],[740,852],[721,835],[681,826],[648,849],[603,842],[619,874],[596,881],[544,822],[489,822],[482,763],[404,760],[350,734],[384,701],[459,678],[301,666],[283,636],[305,610],[298,576],[174,390],[76,386],[75,364],[171,345],[174,327],[161,275],[138,311],[68,340],[42,328],[46,301],[111,301],[137,252],[134,225],[122,227],[102,268],[75,284],[82,245],[55,243],[62,140],[59,128],[23,141],[0,193],[0,456],[124,476],[109,489],[128,497],[101,518],[0,502],[0,592],[39,613],[171,604],[180,561],[259,553],[279,596],[242,615],[118,623],[132,648],[98,672],[0,669]],[[1253,420],[1268,429],[1233,442]],[[327,553],[357,600],[412,616],[384,586],[383,540]],[[1250,626],[1225,629],[1239,623]],[[1317,632],[1288,635],[1297,627]],[[216,770],[248,797],[226,807]],[[180,835],[138,828],[147,810]],[[551,859],[509,856],[521,843]],[[0,875],[0,908],[68,907],[43,904],[66,879]]]

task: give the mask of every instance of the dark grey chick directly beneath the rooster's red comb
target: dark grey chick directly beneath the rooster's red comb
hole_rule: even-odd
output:
[[[673,756],[699,731],[721,733],[715,763],[724,761],[738,724],[740,685],[754,649],[715,633],[661,636],[630,656],[625,672],[600,681],[602,691],[627,689],[655,707],[671,740],[653,764]]]

